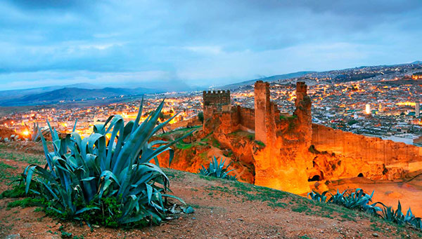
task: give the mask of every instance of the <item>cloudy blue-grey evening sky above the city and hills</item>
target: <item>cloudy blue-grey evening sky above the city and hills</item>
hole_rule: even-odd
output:
[[[421,0],[4,0],[0,90],[222,86],[422,60]]]

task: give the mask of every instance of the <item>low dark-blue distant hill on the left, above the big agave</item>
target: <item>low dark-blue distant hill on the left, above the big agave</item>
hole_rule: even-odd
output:
[[[60,88],[43,93],[25,95],[23,97],[0,100],[0,106],[23,106],[37,104],[54,104],[60,101],[78,101],[94,100],[102,97],[120,97],[121,95],[143,95],[151,93],[162,93],[161,90],[148,88],[103,88],[103,89],[84,89],[84,88]]]

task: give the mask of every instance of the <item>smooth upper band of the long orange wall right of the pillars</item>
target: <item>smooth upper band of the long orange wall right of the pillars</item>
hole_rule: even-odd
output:
[[[312,144],[328,151],[385,168],[402,168],[408,172],[422,170],[422,147],[392,142],[377,137],[356,135],[312,124]]]

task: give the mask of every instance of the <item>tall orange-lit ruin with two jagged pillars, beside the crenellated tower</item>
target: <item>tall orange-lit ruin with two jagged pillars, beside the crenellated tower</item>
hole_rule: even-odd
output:
[[[265,146],[255,151],[254,158],[255,184],[301,194],[310,190],[307,170],[312,168],[308,150],[312,128],[311,100],[305,83],[298,86],[302,87],[302,96],[293,116],[281,119],[276,104],[267,101],[268,84],[255,83],[255,138],[265,140]],[[258,102],[257,93],[261,94]]]

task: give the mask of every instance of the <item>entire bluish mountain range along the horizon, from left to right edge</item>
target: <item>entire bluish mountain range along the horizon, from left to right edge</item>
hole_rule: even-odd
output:
[[[415,61],[407,64],[422,65],[422,61]],[[385,67],[385,66],[374,66]],[[391,66],[390,66],[391,67]],[[363,67],[357,67],[363,68]],[[350,69],[343,69],[337,71],[347,71]],[[241,81],[239,83],[232,83],[226,86],[219,86],[219,90],[231,90],[240,86],[251,85],[255,81],[280,81],[290,78],[300,78],[307,74],[326,74],[331,71],[298,71],[290,74],[281,74],[275,76],[268,76],[262,78],[255,78],[253,80]],[[158,82],[157,82],[158,83]],[[160,86],[158,86],[160,85]],[[205,88],[193,88],[187,86],[183,81],[174,81],[172,83],[158,83],[157,88],[101,88],[89,83],[78,83],[68,86],[48,86],[41,88],[30,88],[23,90],[1,90],[0,91],[0,107],[25,106],[25,105],[39,105],[39,104],[56,104],[58,102],[73,102],[80,100],[96,100],[98,98],[112,99],[114,97],[124,96],[140,96],[144,94],[165,93],[170,91],[196,91],[206,90]]]

